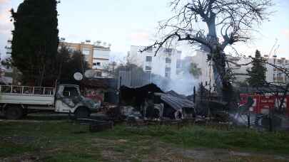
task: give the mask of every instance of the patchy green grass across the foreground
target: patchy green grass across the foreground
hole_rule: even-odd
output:
[[[225,129],[211,126],[118,125],[113,130],[89,133],[87,126],[68,120],[0,122],[1,158],[33,156],[41,161],[139,161],[160,148],[226,148],[235,151],[288,154],[289,134]],[[161,156],[161,153],[159,156]],[[174,154],[178,159],[180,155]],[[31,157],[30,157],[31,158]],[[166,160],[164,160],[166,161]]]

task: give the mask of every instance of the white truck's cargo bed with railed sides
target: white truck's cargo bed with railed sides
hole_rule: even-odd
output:
[[[53,105],[52,87],[0,86],[0,104]]]

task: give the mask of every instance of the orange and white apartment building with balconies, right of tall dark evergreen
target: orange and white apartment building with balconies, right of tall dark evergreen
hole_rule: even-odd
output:
[[[88,62],[89,68],[95,72],[94,77],[108,76],[108,62],[111,52],[111,44],[101,43],[101,41],[91,43],[91,41],[86,40],[81,43],[68,43],[61,41],[61,43],[59,43],[59,48],[61,48],[61,45],[65,45],[70,52],[80,51]]]

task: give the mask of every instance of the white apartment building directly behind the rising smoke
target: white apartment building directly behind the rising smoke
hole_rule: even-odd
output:
[[[155,56],[156,48],[150,48],[143,53],[145,46],[131,45],[129,60],[143,68],[149,74],[160,75],[171,79],[177,77],[177,63],[181,59],[181,51],[173,48],[161,48]]]

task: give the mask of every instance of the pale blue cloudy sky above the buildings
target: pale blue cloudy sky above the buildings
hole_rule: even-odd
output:
[[[13,23],[9,9],[17,9],[23,0],[0,0],[0,53],[5,53],[6,41],[11,38]],[[273,0],[275,11],[270,21],[258,27],[252,41],[236,45],[239,53],[254,55],[256,49],[268,54],[278,39],[276,54],[289,58],[289,1]],[[150,45],[157,32],[158,21],[170,18],[170,0],[61,0],[58,4],[59,38],[80,43],[102,41],[111,43],[113,60],[123,58],[131,45]],[[193,55],[180,47],[183,56]],[[2,54],[3,55],[3,54]],[[273,54],[272,54],[273,55]]]

